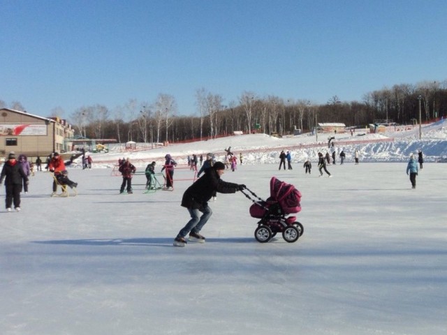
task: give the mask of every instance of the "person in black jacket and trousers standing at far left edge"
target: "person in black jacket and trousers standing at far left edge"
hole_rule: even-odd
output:
[[[28,184],[28,177],[23,172],[19,162],[15,159],[13,151],[8,155],[8,161],[5,162],[0,174],[0,184],[5,180],[6,188],[6,211],[11,211],[14,203],[16,211],[20,211],[20,192],[22,192],[22,181]]]

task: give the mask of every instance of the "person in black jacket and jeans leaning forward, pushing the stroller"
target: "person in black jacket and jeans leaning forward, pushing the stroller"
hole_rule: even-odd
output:
[[[189,234],[189,241],[205,243],[205,237],[199,234],[199,232],[212,215],[212,210],[208,206],[208,201],[211,199],[212,194],[215,191],[219,193],[235,193],[246,188],[243,184],[239,185],[223,181],[221,175],[224,172],[225,165],[221,162],[216,162],[203,177],[186,189],[182,198],[182,207],[188,209],[191,220],[186,223],[184,228],[177,234],[177,237],[175,237],[174,246],[185,246],[187,234]],[[202,213],[201,216],[200,212]]]

